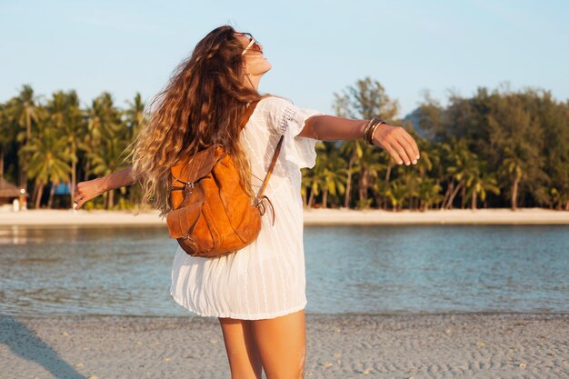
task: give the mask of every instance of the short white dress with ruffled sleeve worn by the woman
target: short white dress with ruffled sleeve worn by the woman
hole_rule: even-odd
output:
[[[306,305],[301,167],[313,167],[317,140],[298,136],[314,110],[279,97],[257,104],[241,132],[256,193],[265,178],[279,136],[283,147],[265,194],[270,206],[253,244],[218,258],[192,257],[178,246],[172,265],[170,294],[202,316],[258,320],[290,314]]]

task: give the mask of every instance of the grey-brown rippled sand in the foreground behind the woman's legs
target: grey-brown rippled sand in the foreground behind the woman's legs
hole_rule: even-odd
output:
[[[306,378],[567,378],[569,314],[307,315]],[[229,378],[202,317],[0,317],[1,378]]]

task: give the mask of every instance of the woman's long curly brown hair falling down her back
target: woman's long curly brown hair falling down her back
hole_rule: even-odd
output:
[[[244,85],[244,46],[231,26],[215,28],[178,65],[165,89],[150,105],[148,123],[131,153],[134,175],[143,189],[143,204],[172,209],[170,168],[183,155],[222,145],[239,169],[245,192],[251,189],[251,169],[239,144],[239,124],[246,105],[262,96]]]

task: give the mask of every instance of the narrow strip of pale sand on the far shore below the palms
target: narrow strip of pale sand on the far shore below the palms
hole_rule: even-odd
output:
[[[0,213],[0,226],[13,225],[160,225],[157,211],[135,214],[123,211],[28,210]],[[426,212],[313,209],[304,211],[304,224],[569,224],[569,212],[542,208],[456,209]]]

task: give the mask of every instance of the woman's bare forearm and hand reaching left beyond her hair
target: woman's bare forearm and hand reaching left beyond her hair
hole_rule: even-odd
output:
[[[99,194],[104,194],[116,188],[134,185],[135,178],[132,175],[133,167],[128,166],[113,174],[98,177],[86,182],[79,182],[75,187],[74,202],[77,204],[75,209],[79,209],[81,205],[93,199]]]

